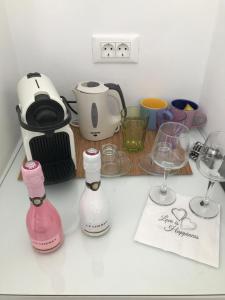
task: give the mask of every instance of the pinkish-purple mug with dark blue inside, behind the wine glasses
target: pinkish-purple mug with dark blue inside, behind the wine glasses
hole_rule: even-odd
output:
[[[189,128],[201,127],[206,123],[207,117],[201,111],[198,104],[187,99],[175,99],[171,101],[171,111],[174,120],[179,119],[181,115],[186,114],[183,122]]]

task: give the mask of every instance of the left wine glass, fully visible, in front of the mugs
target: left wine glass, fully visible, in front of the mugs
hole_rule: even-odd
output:
[[[189,129],[185,125],[166,122],[160,126],[151,152],[153,162],[164,170],[163,184],[153,187],[149,193],[156,204],[175,202],[176,193],[167,187],[166,179],[170,170],[180,169],[187,163],[189,144]]]

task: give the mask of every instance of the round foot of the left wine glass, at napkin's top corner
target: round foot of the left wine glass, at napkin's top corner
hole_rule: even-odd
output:
[[[176,201],[176,193],[167,187],[167,192],[161,192],[161,186],[155,186],[149,193],[150,199],[158,205],[171,205]]]

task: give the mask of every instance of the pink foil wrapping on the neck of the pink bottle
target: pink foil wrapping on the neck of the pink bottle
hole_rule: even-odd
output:
[[[41,164],[36,160],[26,162],[21,167],[23,181],[30,198],[43,197],[45,194],[44,175]]]

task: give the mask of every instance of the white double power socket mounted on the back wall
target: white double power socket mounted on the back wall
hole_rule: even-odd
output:
[[[95,34],[92,36],[92,54],[95,63],[137,63],[139,35]]]

